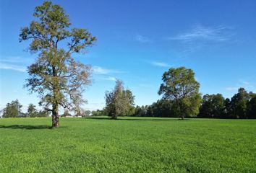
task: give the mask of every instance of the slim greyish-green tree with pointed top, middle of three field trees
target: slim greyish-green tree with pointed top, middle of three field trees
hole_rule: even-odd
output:
[[[107,115],[111,115],[112,119],[117,116],[125,116],[134,114],[134,99],[130,90],[124,89],[124,83],[121,80],[116,80],[116,86],[113,91],[106,92],[106,107]]]

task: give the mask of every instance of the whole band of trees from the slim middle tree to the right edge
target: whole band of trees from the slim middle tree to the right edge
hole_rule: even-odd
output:
[[[222,94],[199,93],[200,84],[191,69],[170,68],[163,74],[158,94],[163,98],[152,105],[134,105],[135,97],[116,81],[112,92],[106,92],[106,107],[98,115],[139,117],[208,117],[256,118],[256,94],[240,88],[231,99]]]

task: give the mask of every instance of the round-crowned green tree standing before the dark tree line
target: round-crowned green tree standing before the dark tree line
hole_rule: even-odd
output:
[[[199,112],[201,96],[200,84],[195,80],[192,69],[185,67],[170,68],[162,76],[158,94],[163,94],[163,99],[174,100],[174,105],[179,116],[196,116]]]

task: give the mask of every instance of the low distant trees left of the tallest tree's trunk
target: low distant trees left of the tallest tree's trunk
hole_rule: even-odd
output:
[[[37,110],[35,105],[32,103],[28,105],[27,112],[24,113],[21,110],[22,105],[19,100],[14,100],[10,103],[7,103],[7,106],[1,110],[2,117],[48,117],[49,112],[46,110]]]

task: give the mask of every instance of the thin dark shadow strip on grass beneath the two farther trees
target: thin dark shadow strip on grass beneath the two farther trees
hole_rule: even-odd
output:
[[[86,119],[95,119],[95,120],[115,120],[111,117],[86,117]],[[168,120],[182,120],[180,118],[174,118],[174,117],[137,117],[137,118],[127,118],[127,117],[118,117],[116,120],[131,120],[131,121],[168,121]],[[184,119],[189,120],[189,119]]]

